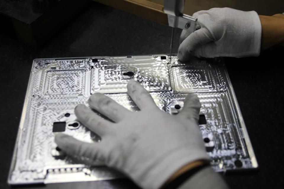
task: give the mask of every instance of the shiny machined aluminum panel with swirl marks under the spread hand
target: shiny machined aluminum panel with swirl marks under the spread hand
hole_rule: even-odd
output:
[[[211,165],[217,172],[258,167],[222,59],[192,59],[182,63],[167,55],[35,59],[22,110],[8,183],[57,183],[106,180],[123,175],[99,160],[69,157],[54,143],[64,132],[87,142],[100,137],[83,126],[74,114],[100,92],[129,110],[139,111],[127,95],[134,79],[170,114],[183,108],[188,93],[201,102],[199,127]],[[177,159],[178,161],[178,159]]]

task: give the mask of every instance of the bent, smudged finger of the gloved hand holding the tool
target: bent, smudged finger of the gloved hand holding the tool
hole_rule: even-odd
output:
[[[193,56],[194,50],[210,41],[213,41],[208,30],[201,28],[191,33],[178,48],[178,59],[188,61]]]

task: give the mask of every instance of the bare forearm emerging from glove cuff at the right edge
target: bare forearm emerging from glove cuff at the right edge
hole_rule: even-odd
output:
[[[284,43],[284,15],[259,15],[262,25],[261,49],[265,50],[274,45]]]

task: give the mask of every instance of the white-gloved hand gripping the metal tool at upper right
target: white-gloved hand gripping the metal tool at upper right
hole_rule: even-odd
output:
[[[178,59],[191,56],[214,58],[220,56],[258,56],[261,45],[261,22],[255,11],[212,8],[193,14],[196,31],[183,30],[180,35]]]

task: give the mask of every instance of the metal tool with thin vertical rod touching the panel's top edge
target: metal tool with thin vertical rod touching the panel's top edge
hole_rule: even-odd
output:
[[[172,27],[170,61],[172,61],[172,47],[174,43],[175,28],[178,27],[194,32],[197,18],[183,14],[184,0],[164,0],[164,12],[168,15],[169,26]]]

